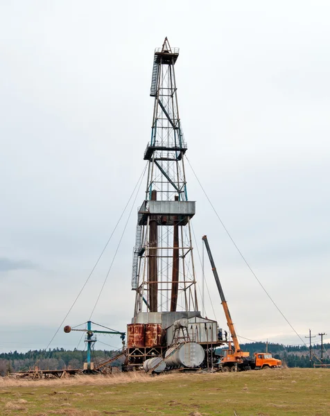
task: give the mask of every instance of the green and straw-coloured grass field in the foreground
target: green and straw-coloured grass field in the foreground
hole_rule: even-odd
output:
[[[330,370],[0,378],[0,415],[330,415]]]

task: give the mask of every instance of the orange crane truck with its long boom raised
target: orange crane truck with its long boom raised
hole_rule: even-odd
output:
[[[228,304],[225,300],[223,288],[220,284],[220,279],[216,270],[216,265],[214,263],[211,249],[209,248],[209,241],[207,241],[207,236],[203,236],[202,241],[205,243],[205,248],[207,250],[207,254],[209,255],[209,261],[211,263],[214,279],[216,280],[216,286],[220,295],[221,304],[223,305],[223,311],[225,312],[229,333],[232,335],[232,341],[229,340],[228,342],[228,349],[222,349],[223,355],[220,356],[220,361],[218,363],[219,368],[223,372],[228,372],[281,367],[281,360],[273,358],[272,354],[256,352],[254,353],[254,357],[251,358],[249,352],[244,352],[241,350],[241,347],[238,343],[234,323],[229,313]],[[234,344],[234,349],[232,344]]]

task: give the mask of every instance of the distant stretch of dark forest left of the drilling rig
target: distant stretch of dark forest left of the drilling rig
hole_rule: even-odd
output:
[[[101,362],[114,354],[113,351],[94,350],[92,361]],[[69,351],[63,348],[35,349],[28,352],[8,352],[0,354],[0,376],[5,376],[8,372],[26,371],[35,366],[41,370],[65,370],[78,369],[83,367],[87,361],[87,351],[74,349]],[[112,365],[121,365],[114,362]]]

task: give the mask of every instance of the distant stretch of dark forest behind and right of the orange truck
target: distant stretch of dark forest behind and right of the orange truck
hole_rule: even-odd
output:
[[[243,351],[266,352],[266,343],[246,343],[241,344]],[[288,367],[310,367],[313,364],[321,363],[321,345],[312,345],[312,362],[309,360],[309,347],[306,345],[282,345],[268,343],[268,352],[274,358],[282,361]],[[323,363],[330,364],[330,344],[323,344]]]

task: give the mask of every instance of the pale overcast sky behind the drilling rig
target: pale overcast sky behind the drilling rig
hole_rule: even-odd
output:
[[[0,352],[47,347],[121,216],[145,166],[153,51],[165,36],[180,47],[193,170],[299,335],[330,339],[329,15],[326,0],[0,0]],[[186,175],[195,245],[202,255],[207,234],[238,333],[302,343],[187,162]],[[132,209],[92,318],[125,331],[145,185],[65,324],[88,320]],[[197,252],[196,263],[200,280]],[[210,268],[207,284],[225,327]],[[79,339],[60,329],[51,347]]]

